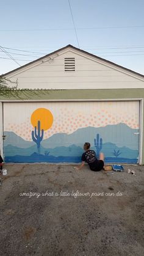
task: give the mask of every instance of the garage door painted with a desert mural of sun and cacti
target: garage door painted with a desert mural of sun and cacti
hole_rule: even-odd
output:
[[[138,163],[139,101],[4,103],[7,163],[79,163],[90,142],[106,163]]]

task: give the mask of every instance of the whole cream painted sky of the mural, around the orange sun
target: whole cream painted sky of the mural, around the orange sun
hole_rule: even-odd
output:
[[[37,108],[46,108],[53,115],[53,123],[44,132],[44,139],[55,133],[71,134],[87,126],[101,127],[125,123],[139,129],[139,103],[137,101],[81,102],[81,103],[7,103],[4,108],[4,131],[13,131],[27,141],[32,141],[31,115]],[[27,104],[27,106],[26,106]],[[10,108],[11,106],[11,108]],[[12,112],[10,112],[12,109]]]

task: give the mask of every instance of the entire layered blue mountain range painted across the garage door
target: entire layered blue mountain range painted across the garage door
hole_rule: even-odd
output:
[[[90,142],[95,150],[96,134],[103,139],[102,152],[107,163],[137,163],[139,156],[139,130],[119,125],[105,127],[87,127],[74,131],[72,134],[57,133],[41,141],[40,152],[33,141],[25,141],[13,132],[5,131],[4,140],[5,161],[8,163],[79,163],[84,152],[84,142]]]

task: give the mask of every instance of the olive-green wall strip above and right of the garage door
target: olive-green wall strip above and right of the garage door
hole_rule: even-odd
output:
[[[45,91],[44,94],[38,92],[38,95],[33,95],[26,99],[26,101],[69,101],[69,100],[131,100],[131,99],[143,99],[143,89],[112,89],[112,90],[51,90],[50,92]],[[24,97],[23,93],[21,97]],[[1,101],[7,101],[7,98],[0,99]],[[8,101],[17,100],[12,97]],[[17,100],[20,101],[20,100]],[[144,134],[143,134],[143,111],[142,108],[142,119],[140,117],[140,123],[142,123],[142,145],[144,145]],[[144,164],[144,147],[142,146],[142,164]]]

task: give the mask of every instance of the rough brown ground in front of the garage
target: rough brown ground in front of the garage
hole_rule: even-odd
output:
[[[79,171],[68,165],[5,167],[1,256],[144,255],[143,166],[124,166],[113,174],[88,166]]]

